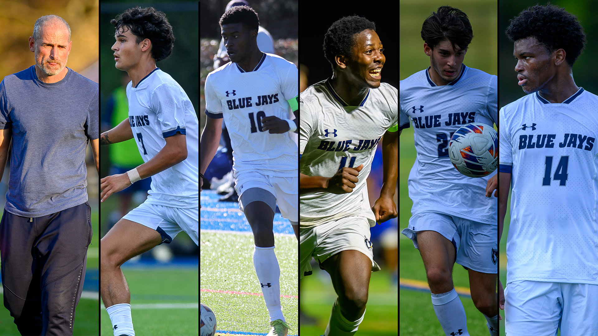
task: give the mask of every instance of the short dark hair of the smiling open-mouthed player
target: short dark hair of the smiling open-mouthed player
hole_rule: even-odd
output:
[[[337,55],[343,55],[351,59],[352,49],[355,45],[355,34],[364,30],[376,31],[376,23],[361,16],[346,16],[332,23],[326,35],[324,35],[324,56],[334,66]]]

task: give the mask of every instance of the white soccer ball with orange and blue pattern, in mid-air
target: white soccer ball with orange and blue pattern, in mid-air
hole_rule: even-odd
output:
[[[466,124],[450,138],[449,157],[463,175],[486,176],[498,167],[498,135],[492,126]]]

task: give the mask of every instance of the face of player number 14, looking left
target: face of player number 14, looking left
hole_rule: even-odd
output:
[[[535,37],[515,41],[513,56],[517,59],[517,81],[525,93],[541,90],[554,77],[552,54],[538,44]]]

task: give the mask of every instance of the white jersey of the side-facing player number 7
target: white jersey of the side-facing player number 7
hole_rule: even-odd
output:
[[[137,87],[127,85],[129,124],[145,162],[181,133],[187,139],[187,158],[151,176],[145,203],[191,208],[199,205],[199,123],[187,93],[169,74],[155,68]]]

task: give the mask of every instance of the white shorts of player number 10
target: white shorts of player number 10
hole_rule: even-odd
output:
[[[251,188],[261,188],[276,198],[280,214],[291,222],[299,221],[299,178],[279,178],[260,172],[240,172],[235,174],[234,188],[241,200],[243,193]],[[270,204],[272,206],[272,204]],[[243,202],[239,201],[243,211]],[[274,209],[273,209],[274,210]]]

